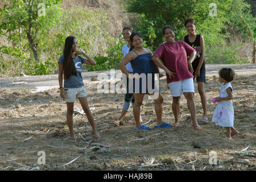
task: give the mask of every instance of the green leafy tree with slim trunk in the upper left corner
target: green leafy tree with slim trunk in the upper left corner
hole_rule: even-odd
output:
[[[59,16],[61,0],[13,0],[3,1],[0,9],[0,35],[4,33],[24,51],[28,42],[34,59],[39,63],[38,46],[45,42],[45,35]]]

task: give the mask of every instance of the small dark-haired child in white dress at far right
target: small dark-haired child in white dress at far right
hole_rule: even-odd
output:
[[[222,68],[219,71],[219,81],[223,84],[221,85],[219,97],[215,98],[218,105],[211,119],[211,122],[216,122],[217,125],[225,127],[227,131],[226,139],[231,139],[239,133],[234,129],[233,88],[231,86],[234,76],[235,72],[231,68]]]

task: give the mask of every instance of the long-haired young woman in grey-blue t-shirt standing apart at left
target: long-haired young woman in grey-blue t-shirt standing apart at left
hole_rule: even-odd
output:
[[[82,56],[86,57],[86,59]],[[99,134],[96,130],[94,117],[88,106],[87,94],[85,85],[81,75],[82,64],[95,65],[94,59],[85,53],[85,51],[78,51],[78,42],[74,36],[68,36],[65,40],[65,47],[63,55],[59,57],[59,89],[61,97],[66,101],[67,104],[67,125],[69,126],[70,139],[75,140],[73,131],[73,111],[74,102],[76,98],[81,102],[83,111],[93,128],[94,138],[98,139]],[[63,75],[64,75],[64,86],[63,86]]]

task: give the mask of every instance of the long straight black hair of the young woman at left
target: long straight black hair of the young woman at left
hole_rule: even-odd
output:
[[[77,71],[75,69],[75,64],[72,55],[72,46],[74,44],[74,36],[68,36],[65,40],[65,47],[63,51],[64,62],[63,62],[63,73],[64,78],[69,79],[71,75],[77,76]]]

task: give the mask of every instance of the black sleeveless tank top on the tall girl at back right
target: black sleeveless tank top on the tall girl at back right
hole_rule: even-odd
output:
[[[195,55],[195,60],[192,63],[194,73],[195,73],[195,69],[197,69],[197,67],[198,67],[199,59],[201,57],[200,36],[201,36],[200,34],[197,34],[197,37],[195,38],[194,42],[189,42],[189,35],[186,35],[184,38],[184,42],[189,44],[189,46],[193,47],[195,49],[195,51],[197,52],[197,55]],[[205,60],[203,60],[203,64],[201,66],[200,71],[205,71]]]

